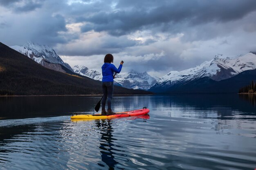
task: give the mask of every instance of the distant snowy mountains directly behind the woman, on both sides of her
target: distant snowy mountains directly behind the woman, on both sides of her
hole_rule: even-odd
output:
[[[95,80],[102,79],[102,74],[99,71],[89,69],[85,66],[76,65],[73,67],[73,70],[75,73]],[[117,74],[116,78],[114,79],[114,83],[116,85],[141,90],[148,90],[150,87],[154,86],[156,82],[157,78],[151,77],[147,72],[137,73],[135,71],[131,71],[126,74]]]

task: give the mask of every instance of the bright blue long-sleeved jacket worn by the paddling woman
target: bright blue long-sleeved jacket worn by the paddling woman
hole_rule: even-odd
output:
[[[102,82],[113,82],[113,74],[115,73],[120,73],[122,66],[120,64],[120,66],[118,67],[118,69],[114,66],[114,64],[111,63],[104,63],[103,66],[101,67],[102,69]]]

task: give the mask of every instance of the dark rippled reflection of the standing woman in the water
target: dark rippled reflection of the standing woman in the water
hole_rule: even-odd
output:
[[[110,119],[96,120],[95,123],[96,123],[96,126],[101,130],[101,132],[100,132],[100,134],[101,134],[100,142],[101,143],[99,146],[99,148],[101,150],[100,151],[101,152],[101,160],[108,165],[109,170],[114,170],[115,165],[118,164],[118,162],[115,161],[115,159],[114,159],[115,156],[113,154],[115,154],[115,152],[113,152],[113,150],[116,150],[116,151],[120,151],[120,150],[113,148],[113,146],[115,146],[113,144],[113,141],[117,140],[117,139],[113,138],[113,135],[112,135],[113,128],[111,126],[111,124],[112,124],[111,120]],[[127,155],[122,154],[122,156],[127,156]],[[124,159],[122,159],[122,160],[124,160]],[[101,163],[98,163],[98,165],[104,167],[104,165]]]

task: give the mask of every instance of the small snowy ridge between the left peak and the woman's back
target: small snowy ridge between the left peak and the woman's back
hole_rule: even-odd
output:
[[[86,77],[90,77],[90,78],[95,79],[95,80],[101,80],[102,79],[102,74],[99,71],[89,69],[85,66],[76,65],[76,66],[73,67],[73,70],[74,70],[75,73],[78,73],[78,74],[86,76]]]

